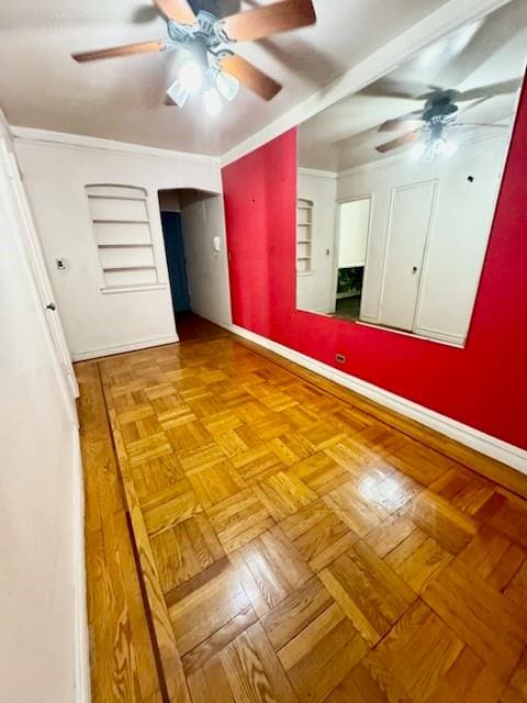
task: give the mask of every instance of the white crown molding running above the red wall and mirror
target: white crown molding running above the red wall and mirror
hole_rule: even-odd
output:
[[[430,15],[403,32],[383,47],[367,56],[359,64],[328,83],[302,103],[237,144],[221,157],[221,165],[228,166],[246,154],[267,144],[288,130],[361,90],[382,78],[396,66],[412,58],[434,42],[447,36],[468,22],[507,4],[511,0],[449,0]]]

